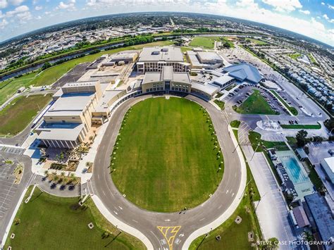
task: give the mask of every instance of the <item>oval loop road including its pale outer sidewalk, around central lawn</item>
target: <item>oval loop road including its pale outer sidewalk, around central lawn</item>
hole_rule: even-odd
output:
[[[143,95],[128,99],[113,113],[99,144],[94,161],[96,167],[88,187],[101,213],[113,225],[141,239],[148,249],[187,249],[194,239],[221,225],[235,211],[246,185],[246,165],[239,147],[235,149],[237,142],[233,132],[229,132],[223,113],[208,102],[187,95],[185,99],[206,109],[223,152],[223,178],[216,192],[199,206],[174,213],[147,211],[130,202],[111,180],[111,152],[129,108],[150,97]]]

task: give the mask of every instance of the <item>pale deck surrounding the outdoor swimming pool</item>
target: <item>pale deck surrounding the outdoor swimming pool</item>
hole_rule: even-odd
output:
[[[308,176],[307,171],[305,170],[304,166],[299,161],[297,156],[295,156],[295,153],[291,150],[276,151],[276,155],[278,156],[278,159],[280,160],[280,162],[283,163],[283,167],[285,168],[285,170],[287,170],[287,175],[289,175],[290,180],[292,180],[293,185],[295,186],[295,190],[298,194],[297,199],[301,199],[302,201],[304,201],[304,196],[306,196],[308,194],[313,194],[315,192],[313,183],[309,179],[309,176]],[[298,182],[296,182],[295,177],[292,176],[292,174],[291,174],[291,171],[287,169],[287,165],[285,165],[284,160],[282,161],[282,159],[285,158],[285,157],[295,158],[295,160],[297,161],[297,164],[299,165],[299,168],[301,170],[300,171],[301,174],[304,175],[301,178],[302,180],[299,180]]]

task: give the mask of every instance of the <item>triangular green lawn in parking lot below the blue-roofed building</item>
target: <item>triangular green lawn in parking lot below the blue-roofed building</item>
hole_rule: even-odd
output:
[[[254,92],[240,105],[239,107],[233,106],[233,109],[237,113],[251,113],[262,115],[277,115],[271,106],[267,103],[266,99],[261,96],[259,90],[254,89]]]

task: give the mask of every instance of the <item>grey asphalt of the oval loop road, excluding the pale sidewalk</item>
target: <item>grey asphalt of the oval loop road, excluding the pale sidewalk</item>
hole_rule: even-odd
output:
[[[94,165],[93,177],[91,180],[92,192],[99,196],[106,208],[123,221],[137,230],[140,230],[153,244],[154,249],[171,249],[168,246],[173,239],[173,249],[181,249],[185,239],[195,230],[216,220],[223,214],[236,197],[241,182],[241,163],[237,152],[234,151],[232,139],[227,130],[227,121],[221,111],[214,106],[195,96],[188,95],[186,98],[201,104],[209,112],[211,120],[214,123],[218,141],[225,161],[225,170],[223,180],[214,194],[200,206],[178,213],[156,213],[145,211],[130,203],[123,197],[113,184],[110,175],[110,154],[113,145],[116,142],[120,123],[123,120],[125,112],[137,101],[149,98],[150,96],[138,96],[125,101],[113,113],[104,138],[99,145]],[[177,192],[177,190],[175,191]],[[158,227],[173,227],[178,230],[175,238],[168,230],[166,237],[161,233]],[[166,232],[166,231],[163,231]]]

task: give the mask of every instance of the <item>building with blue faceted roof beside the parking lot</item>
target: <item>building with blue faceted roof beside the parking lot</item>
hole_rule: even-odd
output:
[[[230,65],[223,69],[223,72],[228,72],[228,75],[234,77],[240,82],[252,82],[254,84],[259,83],[261,81],[262,76],[259,73],[259,70],[255,68],[253,65],[248,63],[240,63],[236,65]]]

